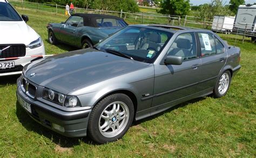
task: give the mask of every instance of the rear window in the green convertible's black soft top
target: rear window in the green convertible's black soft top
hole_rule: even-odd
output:
[[[110,28],[110,27],[125,27],[127,24],[121,19],[114,18],[99,18],[96,19],[99,28]]]

